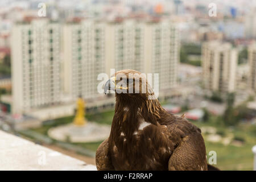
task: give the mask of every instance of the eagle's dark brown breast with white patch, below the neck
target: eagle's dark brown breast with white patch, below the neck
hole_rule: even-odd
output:
[[[166,127],[153,125],[141,115],[137,115],[136,120],[134,127],[124,123],[131,121],[119,122],[122,125],[110,148],[114,167],[119,170],[168,169],[172,145]]]

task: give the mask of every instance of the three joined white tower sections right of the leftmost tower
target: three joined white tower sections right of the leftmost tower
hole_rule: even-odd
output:
[[[64,90],[75,99],[98,95],[97,76],[110,69],[160,73],[159,89],[176,85],[179,32],[169,21],[82,20],[64,26]]]

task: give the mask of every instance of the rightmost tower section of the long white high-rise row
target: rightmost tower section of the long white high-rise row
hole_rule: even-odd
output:
[[[168,20],[147,22],[144,28],[144,68],[159,73],[159,90],[176,86],[180,35]]]

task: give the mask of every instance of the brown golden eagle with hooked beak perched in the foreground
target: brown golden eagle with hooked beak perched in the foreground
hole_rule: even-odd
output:
[[[201,130],[168,114],[144,75],[119,71],[104,90],[114,90],[116,104],[110,136],[96,151],[98,170],[217,169],[207,164]]]

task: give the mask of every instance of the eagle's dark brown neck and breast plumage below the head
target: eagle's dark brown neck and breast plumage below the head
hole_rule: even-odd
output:
[[[159,163],[159,160],[168,161],[171,147],[167,137],[160,137],[163,135],[163,127],[159,123],[163,113],[164,109],[158,100],[117,100],[109,137],[109,151],[112,162],[118,169],[131,170],[133,166],[147,170],[167,168],[168,163]],[[158,148],[154,158],[148,147]]]

